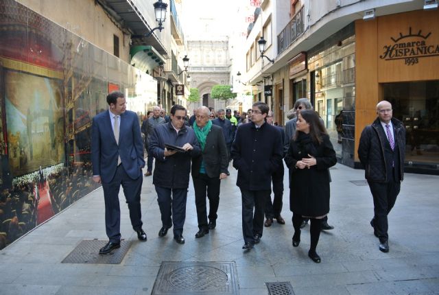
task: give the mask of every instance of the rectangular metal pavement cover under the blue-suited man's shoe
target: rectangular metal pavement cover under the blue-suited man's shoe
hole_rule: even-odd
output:
[[[73,251],[67,255],[62,263],[88,263],[88,264],[119,264],[126,252],[130,249],[131,241],[121,241],[121,248],[112,250],[110,254],[99,255],[99,249],[108,241],[97,239],[81,241]]]

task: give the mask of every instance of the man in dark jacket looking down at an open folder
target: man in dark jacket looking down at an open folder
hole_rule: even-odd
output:
[[[191,158],[201,152],[195,132],[185,126],[185,117],[185,107],[179,104],[172,106],[169,123],[156,126],[150,139],[150,152],[156,158],[152,183],[156,187],[162,220],[158,236],[164,237],[174,224],[174,239],[178,244],[185,244],[182,233],[186,218]],[[178,152],[168,150],[165,144],[181,149]]]

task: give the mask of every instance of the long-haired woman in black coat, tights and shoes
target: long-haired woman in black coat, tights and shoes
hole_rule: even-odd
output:
[[[311,246],[308,256],[320,263],[316,248],[321,220],[329,213],[329,167],[337,163],[337,158],[315,111],[302,110],[298,115],[296,134],[289,143],[285,163],[291,172],[289,209],[293,212],[293,246],[300,243],[302,218],[309,217]]]

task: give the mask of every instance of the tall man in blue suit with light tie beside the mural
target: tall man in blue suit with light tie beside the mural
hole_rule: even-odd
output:
[[[142,229],[140,193],[143,178],[143,142],[137,114],[126,110],[123,93],[107,95],[110,109],[93,117],[91,161],[93,181],[102,183],[105,200],[105,226],[108,243],[99,254],[120,248],[119,189],[122,185],[132,228],[141,241],[146,241]]]

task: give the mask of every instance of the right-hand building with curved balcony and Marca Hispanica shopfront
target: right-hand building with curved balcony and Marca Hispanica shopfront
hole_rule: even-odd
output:
[[[359,167],[361,130],[377,116],[377,103],[389,100],[407,129],[405,170],[439,174],[439,47],[437,26],[431,26],[438,10],[416,0],[291,0],[288,9],[278,2],[261,1],[261,23],[248,34],[246,78],[273,87],[265,97],[259,86],[254,99],[268,102],[275,120],[285,123],[285,112],[307,97],[339,162],[351,167]],[[259,36],[274,62],[252,51]]]

